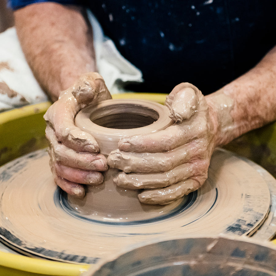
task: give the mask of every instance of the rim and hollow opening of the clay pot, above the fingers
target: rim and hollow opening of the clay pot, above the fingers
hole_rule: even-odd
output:
[[[75,117],[75,125],[90,133],[100,152],[108,155],[118,148],[123,136],[156,132],[172,125],[169,113],[166,106],[148,100],[106,100],[83,108]]]

